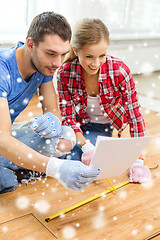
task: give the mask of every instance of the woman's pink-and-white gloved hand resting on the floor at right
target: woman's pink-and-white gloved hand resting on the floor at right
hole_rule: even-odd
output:
[[[129,181],[134,183],[144,183],[150,180],[151,172],[148,167],[144,166],[142,159],[137,159],[129,168]]]

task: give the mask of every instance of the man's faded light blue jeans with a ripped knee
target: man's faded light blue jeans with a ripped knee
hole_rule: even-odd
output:
[[[28,122],[20,124],[13,124],[12,135],[30,148],[48,157],[60,157],[64,155],[64,153],[56,149],[60,138],[76,142],[75,134],[71,127],[63,126],[62,132],[58,136],[46,141],[46,139],[39,138],[33,132]],[[12,191],[17,187],[18,181],[14,174],[14,171],[17,169],[23,168],[0,155],[0,193]]]

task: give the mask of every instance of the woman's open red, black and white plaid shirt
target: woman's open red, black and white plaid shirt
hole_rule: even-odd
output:
[[[135,84],[129,68],[118,58],[107,56],[99,71],[99,104],[102,113],[118,130],[119,136],[129,124],[131,137],[144,136]],[[59,104],[64,125],[80,132],[90,119],[86,113],[87,91],[78,59],[63,64],[57,73]]]

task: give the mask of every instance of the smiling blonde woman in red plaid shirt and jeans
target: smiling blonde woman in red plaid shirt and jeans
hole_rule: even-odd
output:
[[[63,124],[72,126],[78,143],[71,158],[82,158],[86,165],[98,135],[111,137],[116,128],[120,137],[128,124],[131,137],[142,137],[145,131],[130,70],[107,55],[108,45],[109,32],[101,20],[81,20],[70,54],[57,73]],[[143,165],[143,160],[139,162]]]

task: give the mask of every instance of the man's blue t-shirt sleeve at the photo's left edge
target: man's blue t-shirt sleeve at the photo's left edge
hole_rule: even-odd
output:
[[[0,97],[7,98],[10,92],[10,74],[7,66],[0,61]]]

